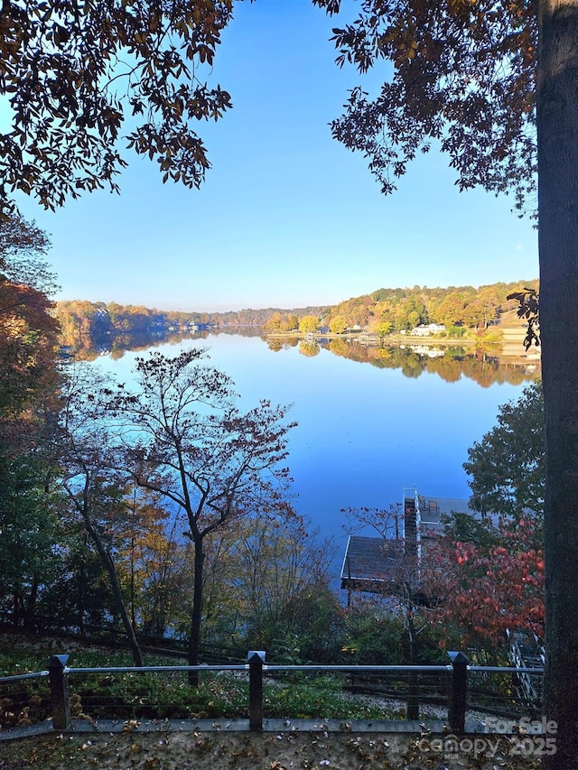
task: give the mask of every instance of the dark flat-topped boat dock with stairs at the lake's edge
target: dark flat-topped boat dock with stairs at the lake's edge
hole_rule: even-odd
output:
[[[386,584],[397,580],[404,553],[413,552],[419,562],[422,546],[443,533],[444,515],[478,516],[468,500],[419,495],[415,487],[405,487],[403,496],[404,513],[392,522],[391,539],[350,535],[341,567],[341,589],[382,593]]]

